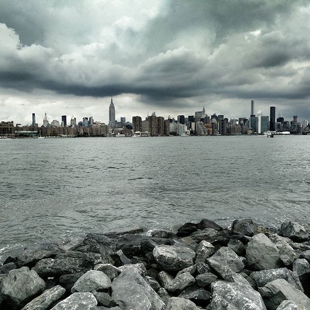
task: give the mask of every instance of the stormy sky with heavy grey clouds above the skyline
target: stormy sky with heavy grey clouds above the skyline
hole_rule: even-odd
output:
[[[0,120],[310,121],[310,0],[0,0]]]

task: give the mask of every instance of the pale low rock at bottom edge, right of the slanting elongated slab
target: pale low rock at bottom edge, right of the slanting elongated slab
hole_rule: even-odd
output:
[[[51,310],[90,310],[96,305],[97,300],[92,293],[74,293]]]

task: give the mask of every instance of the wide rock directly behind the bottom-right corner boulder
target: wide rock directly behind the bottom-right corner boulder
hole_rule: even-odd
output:
[[[250,274],[250,278],[256,282],[258,287],[265,286],[267,283],[276,279],[285,279],[296,289],[303,292],[303,288],[297,274],[291,270],[288,270],[287,268],[255,271]]]

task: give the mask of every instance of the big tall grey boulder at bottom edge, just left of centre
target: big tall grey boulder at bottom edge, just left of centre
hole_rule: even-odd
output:
[[[115,278],[111,285],[112,298],[122,310],[163,310],[164,302],[140,274],[128,269]]]

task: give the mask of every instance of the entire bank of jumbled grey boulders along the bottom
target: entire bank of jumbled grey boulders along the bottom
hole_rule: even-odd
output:
[[[310,226],[202,219],[26,248],[0,266],[1,310],[310,310]]]

